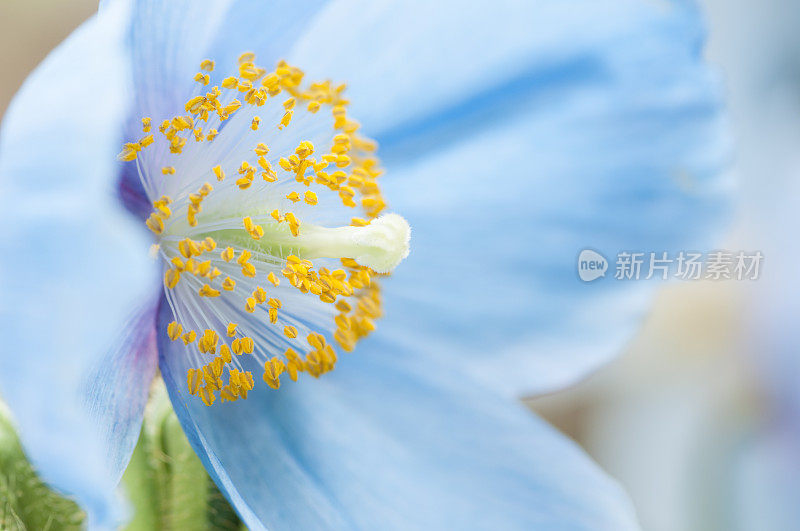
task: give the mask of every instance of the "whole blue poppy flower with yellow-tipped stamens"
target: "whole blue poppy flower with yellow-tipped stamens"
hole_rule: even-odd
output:
[[[581,284],[578,250],[698,246],[718,217],[725,138],[715,85],[699,60],[701,37],[697,13],[683,3],[105,2],[28,79],[2,129],[0,389],[32,461],[78,498],[91,525],[114,525],[122,515],[110,493],[158,368],[192,446],[250,528],[635,528],[614,482],[515,397],[574,381],[607,360],[646,308],[649,287]],[[300,133],[320,131],[307,107],[314,98],[302,90],[289,103],[285,92],[294,87],[281,85],[283,106],[269,102],[259,121],[245,106],[246,121],[217,118],[225,124],[219,136],[210,139],[206,128],[195,142],[202,106],[238,112],[226,108],[230,96],[210,89],[235,76],[237,60],[245,70],[226,91],[260,97],[240,85],[251,68],[254,80],[265,79],[251,57],[240,57],[247,50],[259,65],[286,58],[310,79],[348,81],[347,116],[380,144],[386,175],[377,197],[414,228],[409,258],[381,281],[386,318],[336,370],[302,374],[298,383],[287,383],[293,357],[284,356],[284,337],[324,321],[325,334],[300,333],[298,343],[324,353],[340,327],[331,328],[333,315],[317,301],[297,313],[276,308],[291,319],[281,323],[285,335],[263,332],[273,326],[269,303],[246,271],[256,266],[269,296],[261,269],[268,260],[242,259],[242,251],[278,255],[289,269],[278,279],[282,296],[299,300],[288,284],[303,287],[309,266],[303,256],[292,261],[278,232],[341,225],[347,209],[317,194],[320,204],[302,212],[318,217],[293,221],[287,211],[303,202],[273,197],[278,224],[264,215],[264,196],[235,195],[240,179],[237,188],[261,190],[270,184],[261,173],[272,178],[267,165],[255,176],[256,162],[236,166],[243,159],[235,159],[241,146],[233,140],[246,135],[263,138],[271,157],[285,156],[281,166],[300,180],[308,175],[298,170],[310,156]],[[207,58],[216,62],[210,74]],[[294,83],[295,71],[280,68]],[[332,90],[322,89],[321,99],[335,106]],[[286,119],[288,110],[297,116]],[[187,112],[191,123],[162,126],[169,140],[156,132],[161,120]],[[306,127],[296,138],[295,126]],[[329,123],[326,130],[332,134]],[[276,149],[285,135],[293,141]],[[122,142],[128,162],[119,164]],[[324,135],[312,143],[335,144]],[[299,150],[295,159],[287,149]],[[330,195],[345,203],[347,196]],[[365,204],[367,215],[375,205]],[[234,211],[236,226],[228,223]],[[227,241],[239,242],[235,267],[224,260],[225,245],[200,238],[220,220]],[[176,224],[191,242],[176,236]],[[350,264],[351,274],[402,256],[403,224],[389,225],[390,243],[365,259],[378,261]],[[371,230],[359,232],[371,235],[367,247],[382,237]],[[330,256],[320,251],[326,241],[306,242],[309,256]],[[168,263],[148,258],[153,242]],[[202,265],[192,245],[219,258]],[[335,258],[346,257],[340,245]],[[192,286],[207,296],[186,302],[159,287],[162,276],[173,290]],[[223,276],[248,288],[228,313],[222,297],[209,297],[224,291]],[[192,284],[200,279],[209,287]],[[375,310],[376,299],[361,302],[365,315]],[[231,357],[247,360],[235,376],[211,361],[227,363],[222,332],[234,314],[242,317],[234,324],[252,330],[238,347],[226,344],[245,351]],[[368,331],[369,323],[359,326]],[[348,337],[339,343],[351,346]],[[187,345],[202,345],[206,357],[187,354]],[[317,356],[294,369],[323,372],[335,361]],[[254,385],[256,361],[265,382]]]

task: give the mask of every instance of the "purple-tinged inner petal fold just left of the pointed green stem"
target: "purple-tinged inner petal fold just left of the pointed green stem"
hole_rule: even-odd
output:
[[[148,305],[131,319],[116,348],[89,373],[84,388],[86,408],[105,440],[109,471],[117,479],[136,446],[156,372],[155,316],[156,306]]]

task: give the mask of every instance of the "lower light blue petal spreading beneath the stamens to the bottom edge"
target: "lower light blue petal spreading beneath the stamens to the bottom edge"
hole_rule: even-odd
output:
[[[163,309],[159,330],[171,318]],[[636,528],[574,443],[449,367],[367,340],[319,380],[257,382],[247,400],[206,407],[174,344],[159,334],[175,411],[250,529]]]

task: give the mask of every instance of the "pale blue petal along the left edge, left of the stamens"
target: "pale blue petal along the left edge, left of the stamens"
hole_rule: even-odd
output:
[[[127,15],[124,2],[108,5],[50,54],[0,132],[0,393],[34,466],[77,497],[93,527],[121,516],[105,443],[138,424],[126,406],[127,417],[98,425],[81,392],[106,353],[123,352],[123,327],[156,280],[149,241],[114,187],[130,96]],[[93,389],[135,404],[141,379],[111,369]],[[97,398],[96,411],[114,409]]]

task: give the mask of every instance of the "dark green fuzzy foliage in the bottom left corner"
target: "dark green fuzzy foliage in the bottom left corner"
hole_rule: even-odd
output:
[[[22,451],[5,406],[0,403],[0,529],[56,531],[81,529],[78,505],[47,487]]]

